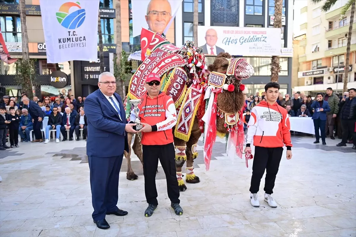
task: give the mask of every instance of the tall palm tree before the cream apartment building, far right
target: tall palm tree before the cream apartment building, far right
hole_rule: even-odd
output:
[[[314,4],[319,3],[321,0],[312,0]],[[332,6],[339,0],[327,0],[324,4],[320,7],[321,11],[327,12],[330,10]],[[351,16],[350,16],[350,25],[349,25],[349,33],[347,34],[347,46],[346,46],[346,60],[345,60],[345,74],[344,74],[344,92],[347,91],[347,76],[349,74],[349,63],[350,63],[350,46],[351,46],[351,34],[352,34],[352,23],[354,22],[354,15],[355,15],[355,0],[349,0],[347,3],[342,7],[340,12],[340,20],[344,18],[346,12],[349,10],[351,6]]]

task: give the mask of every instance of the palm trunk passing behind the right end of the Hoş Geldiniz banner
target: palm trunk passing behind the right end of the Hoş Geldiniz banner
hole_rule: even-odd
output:
[[[282,0],[274,0],[274,28],[282,28]],[[281,29],[282,30],[282,29]],[[279,56],[272,56],[271,60],[271,81],[278,82],[278,74],[281,71]]]

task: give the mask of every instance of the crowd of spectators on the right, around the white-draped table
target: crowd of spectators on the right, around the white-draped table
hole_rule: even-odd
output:
[[[326,136],[329,136],[332,140],[337,137],[342,139],[337,146],[346,146],[346,143],[349,143],[354,145],[353,149],[356,149],[355,96],[355,88],[351,88],[343,95],[339,95],[329,87],[325,93],[318,93],[315,98],[299,91],[294,93],[293,99],[290,98],[289,94],[284,95],[283,98],[282,94],[279,93],[277,103],[288,111],[289,117],[312,117],[316,137],[314,143],[319,143],[320,136],[323,144],[326,144]],[[244,130],[246,130],[251,109],[262,100],[266,100],[265,92],[261,95],[256,92],[255,96],[250,95],[246,98]]]

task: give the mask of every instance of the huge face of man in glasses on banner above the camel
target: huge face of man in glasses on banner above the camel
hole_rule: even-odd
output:
[[[168,0],[151,0],[145,18],[148,29],[162,34],[172,18],[171,4]]]

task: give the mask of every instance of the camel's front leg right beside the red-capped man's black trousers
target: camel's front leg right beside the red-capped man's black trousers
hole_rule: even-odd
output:
[[[182,179],[182,166],[187,159],[187,156],[185,155],[185,144],[186,142],[184,140],[174,137],[174,147],[176,148],[176,175],[178,179],[179,190],[181,192],[187,190],[187,186],[185,186]]]

